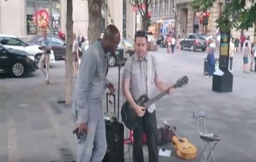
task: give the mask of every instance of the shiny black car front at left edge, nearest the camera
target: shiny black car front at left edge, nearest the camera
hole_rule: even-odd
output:
[[[13,77],[23,77],[34,72],[36,67],[33,55],[26,51],[7,49],[0,44],[0,72],[9,73]]]

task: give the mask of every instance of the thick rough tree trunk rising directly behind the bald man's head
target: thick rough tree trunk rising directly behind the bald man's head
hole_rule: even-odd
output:
[[[104,0],[88,0],[88,41],[91,45],[96,39],[100,38],[101,30],[101,6]]]

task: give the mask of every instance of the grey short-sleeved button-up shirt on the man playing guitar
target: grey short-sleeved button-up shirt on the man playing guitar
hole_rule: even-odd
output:
[[[148,57],[152,57],[152,75],[150,85],[147,85],[147,62]],[[130,93],[134,100],[139,99],[143,94],[146,94],[149,98],[152,98],[156,94],[152,92],[148,93],[147,86],[151,86],[150,89],[155,87],[154,78],[159,74],[156,66],[156,58],[147,53],[146,57],[140,61],[137,54],[132,55],[124,65],[123,78],[130,78]],[[155,104],[152,104],[148,111],[152,113],[155,109]]]

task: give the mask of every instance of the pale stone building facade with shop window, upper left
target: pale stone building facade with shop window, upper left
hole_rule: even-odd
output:
[[[52,30],[61,28],[66,33],[67,0],[0,0],[0,33],[15,36],[33,36],[39,34],[40,27],[48,26]],[[112,22],[122,36],[123,2],[107,0],[108,9],[103,14],[103,29]],[[9,12],[15,11],[15,12]],[[37,12],[36,12],[37,11]],[[52,16],[50,16],[52,15]],[[87,37],[88,5],[87,0],[73,0],[73,31]]]

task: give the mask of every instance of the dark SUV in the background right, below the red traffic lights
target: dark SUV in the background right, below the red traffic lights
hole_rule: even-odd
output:
[[[201,49],[205,51],[207,48],[206,37],[200,34],[188,34],[180,41],[181,49],[190,49],[195,51],[195,49]]]

